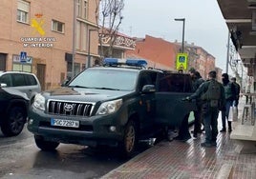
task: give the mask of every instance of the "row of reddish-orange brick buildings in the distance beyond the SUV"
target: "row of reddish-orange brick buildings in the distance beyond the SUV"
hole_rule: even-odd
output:
[[[168,42],[162,38],[146,35],[138,38],[135,50],[127,50],[129,57],[144,58],[149,62],[148,67],[162,70],[176,70],[176,57],[181,52],[181,43]],[[198,70],[204,79],[210,70],[216,70],[215,57],[195,44],[184,43],[184,52],[188,54],[188,68]],[[218,70],[219,71],[219,70]]]

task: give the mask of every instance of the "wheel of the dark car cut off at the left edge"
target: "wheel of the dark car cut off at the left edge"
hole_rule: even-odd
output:
[[[26,111],[21,107],[11,107],[7,111],[7,119],[3,121],[1,130],[5,136],[18,135],[26,123]]]

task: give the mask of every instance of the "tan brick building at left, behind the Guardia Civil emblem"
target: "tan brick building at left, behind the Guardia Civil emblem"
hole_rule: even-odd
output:
[[[98,0],[2,0],[0,70],[29,71],[42,89],[59,87],[98,58],[97,7]]]

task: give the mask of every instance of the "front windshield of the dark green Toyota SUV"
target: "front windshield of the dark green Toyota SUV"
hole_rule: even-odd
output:
[[[69,87],[89,89],[134,90],[138,73],[125,70],[84,70]]]

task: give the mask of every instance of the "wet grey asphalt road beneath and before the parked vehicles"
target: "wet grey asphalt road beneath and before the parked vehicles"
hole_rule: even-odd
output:
[[[4,179],[99,178],[127,160],[115,149],[61,144],[55,151],[41,151],[27,128],[15,137],[0,132],[0,178]]]

